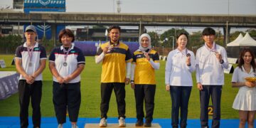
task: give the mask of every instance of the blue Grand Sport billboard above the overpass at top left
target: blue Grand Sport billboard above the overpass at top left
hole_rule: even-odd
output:
[[[25,8],[64,8],[65,0],[24,0]]]

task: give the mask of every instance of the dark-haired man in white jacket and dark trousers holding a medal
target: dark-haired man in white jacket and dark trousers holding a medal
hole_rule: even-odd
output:
[[[212,127],[220,127],[220,97],[224,85],[224,68],[228,68],[225,48],[214,42],[213,28],[203,30],[204,46],[196,51],[196,81],[200,92],[201,127],[208,126],[209,99],[213,102]]]

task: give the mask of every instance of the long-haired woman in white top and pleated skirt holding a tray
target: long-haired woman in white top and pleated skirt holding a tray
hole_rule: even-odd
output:
[[[250,48],[245,48],[240,53],[238,67],[232,76],[232,87],[239,87],[238,94],[233,102],[233,108],[239,110],[239,127],[245,127],[246,121],[248,127],[254,127],[256,113],[256,83],[247,81],[245,78],[256,77],[255,55]]]

